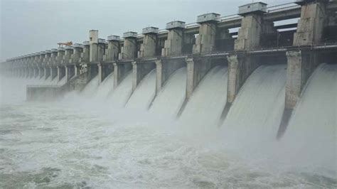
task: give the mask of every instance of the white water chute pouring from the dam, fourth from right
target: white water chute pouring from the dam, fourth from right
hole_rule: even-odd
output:
[[[186,68],[180,68],[166,81],[150,108],[150,112],[176,117],[185,99]]]

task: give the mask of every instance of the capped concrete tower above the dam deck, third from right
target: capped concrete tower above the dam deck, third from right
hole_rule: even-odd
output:
[[[215,51],[216,23],[219,17],[218,13],[206,13],[198,16],[199,35],[196,38],[196,44],[193,45],[193,54],[206,54]]]

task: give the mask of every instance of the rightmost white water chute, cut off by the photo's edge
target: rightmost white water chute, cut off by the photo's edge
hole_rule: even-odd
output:
[[[336,98],[337,65],[320,65],[302,92],[282,139],[294,162],[337,170]]]

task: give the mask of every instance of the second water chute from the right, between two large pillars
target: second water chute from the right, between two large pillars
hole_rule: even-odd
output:
[[[257,68],[230,107],[222,127],[224,137],[248,145],[274,141],[284,110],[285,82],[285,65]]]

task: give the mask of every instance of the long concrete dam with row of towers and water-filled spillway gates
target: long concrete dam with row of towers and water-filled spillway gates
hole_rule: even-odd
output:
[[[40,85],[27,86],[27,100],[58,99],[72,91],[90,93],[95,88],[88,86],[104,85],[113,91],[116,106],[185,120],[194,119],[186,111],[197,115],[203,109],[213,112],[209,117],[220,126],[232,125],[232,118],[227,118],[235,112],[237,116],[254,112],[248,107],[240,112],[254,97],[256,102],[246,105],[260,107],[265,100],[269,107],[260,107],[261,117],[272,113],[275,118],[253,123],[257,131],[264,124],[277,124],[269,131],[281,139],[314,71],[321,63],[326,63],[325,70],[330,65],[336,70],[336,12],[336,1],[272,7],[257,2],[240,6],[235,16],[205,13],[197,17],[197,24],[171,21],[165,30],[146,27],[141,34],[128,31],[122,38],[102,39],[92,30],[89,41],[10,58],[1,63],[0,71],[41,80]],[[287,23],[292,18],[299,18],[298,23]],[[279,21],[285,22],[275,26]],[[233,28],[238,31],[230,32]],[[259,84],[264,86],[250,88]],[[200,88],[208,90],[196,95]],[[106,91],[97,97],[105,98]],[[166,109],[158,107],[163,103]]]

